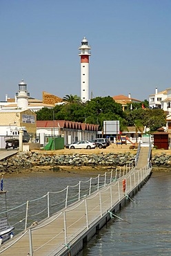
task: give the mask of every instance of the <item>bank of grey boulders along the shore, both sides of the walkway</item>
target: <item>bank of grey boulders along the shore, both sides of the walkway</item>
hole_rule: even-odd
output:
[[[100,153],[100,154],[48,154],[41,152],[19,152],[0,161],[1,173],[35,172],[46,167],[60,170],[61,167],[74,168],[117,168],[134,165],[135,153]],[[171,170],[171,155],[152,154],[152,167],[156,170]]]

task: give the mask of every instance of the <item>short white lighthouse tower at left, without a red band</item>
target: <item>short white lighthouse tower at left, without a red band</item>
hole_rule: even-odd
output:
[[[21,80],[19,83],[19,90],[16,93],[17,98],[17,108],[18,109],[28,109],[28,98],[30,93],[27,91],[27,84]]]

